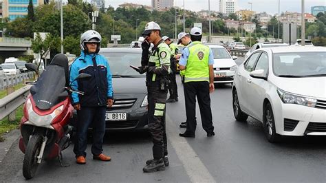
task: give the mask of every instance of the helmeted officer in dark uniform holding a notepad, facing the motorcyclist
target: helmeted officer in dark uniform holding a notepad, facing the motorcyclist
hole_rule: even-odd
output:
[[[171,72],[171,50],[161,39],[161,28],[157,23],[153,21],[147,23],[142,35],[145,41],[142,43],[142,67],[139,68],[142,72],[147,72],[149,132],[153,140],[153,159],[146,161],[143,171],[154,172],[162,171],[165,166],[169,166],[164,114],[169,82],[167,76]],[[150,43],[153,43],[154,47],[151,54],[147,54],[148,59],[145,61]]]

